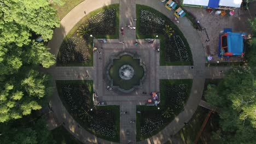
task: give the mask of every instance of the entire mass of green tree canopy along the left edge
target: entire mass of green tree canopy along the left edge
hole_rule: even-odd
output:
[[[47,100],[49,76],[37,68],[55,64],[45,42],[59,26],[48,0],[0,0],[0,122],[29,115]]]

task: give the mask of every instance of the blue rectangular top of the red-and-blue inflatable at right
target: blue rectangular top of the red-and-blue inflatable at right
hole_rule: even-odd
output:
[[[228,33],[228,52],[232,52],[233,56],[240,56],[243,53],[243,37],[246,33]]]

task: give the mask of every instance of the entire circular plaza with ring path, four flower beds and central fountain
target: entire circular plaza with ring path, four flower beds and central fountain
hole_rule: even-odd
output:
[[[186,17],[171,21],[160,1],[143,2],[82,2],[49,43],[57,57],[51,106],[83,143],[165,143],[201,100],[199,35]]]

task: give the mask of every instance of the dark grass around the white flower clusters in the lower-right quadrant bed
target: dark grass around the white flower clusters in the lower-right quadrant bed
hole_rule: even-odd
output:
[[[148,137],[151,137],[159,131],[161,131],[163,128],[166,127],[174,118],[175,115],[178,115],[183,110],[183,105],[185,105],[192,86],[193,81],[189,79],[185,80],[160,80],[160,105],[159,106],[146,106],[146,105],[138,105],[136,111],[140,111],[141,113],[136,113],[136,130],[137,130],[137,141],[141,141],[144,139],[147,139]],[[170,89],[167,89],[168,87],[175,87],[179,85],[187,85],[186,88],[181,88],[182,92],[184,94],[183,97],[179,97],[181,95],[175,94],[176,91],[171,91]],[[178,100],[173,102],[173,98],[178,98]],[[181,100],[182,99],[182,100]],[[173,105],[176,105],[176,102],[181,102],[181,107],[173,107]],[[178,105],[178,104],[177,104]],[[158,110],[158,107],[160,109]],[[162,116],[162,113],[165,112],[167,107],[170,107],[173,109],[173,114],[169,118],[165,118]],[[148,119],[158,119],[160,118],[163,123],[159,125],[159,128],[154,129],[154,131],[151,131],[149,134],[142,135],[141,129],[143,126],[145,126]],[[159,121],[159,120],[158,120]],[[152,125],[151,125],[152,126]]]

